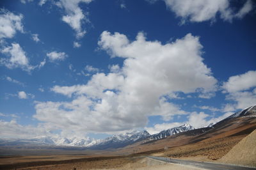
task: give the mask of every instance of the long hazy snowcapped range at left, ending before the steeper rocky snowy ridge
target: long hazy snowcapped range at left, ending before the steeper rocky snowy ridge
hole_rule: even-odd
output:
[[[81,146],[92,149],[120,148],[148,137],[147,131],[134,131],[125,134],[113,135],[106,139],[66,138],[39,136],[33,139],[0,139],[0,146]]]

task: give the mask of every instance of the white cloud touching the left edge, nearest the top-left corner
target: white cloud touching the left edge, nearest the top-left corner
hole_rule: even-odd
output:
[[[0,9],[0,40],[13,38],[17,31],[24,32],[22,25],[23,15],[15,15],[8,10]]]

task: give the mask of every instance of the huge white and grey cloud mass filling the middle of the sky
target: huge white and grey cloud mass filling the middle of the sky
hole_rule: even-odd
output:
[[[72,100],[36,102],[34,118],[62,130],[117,132],[146,127],[148,116],[168,121],[189,114],[168,101],[170,93],[215,90],[217,81],[203,63],[197,36],[188,34],[163,45],[147,41],[143,33],[131,42],[125,35],[104,31],[99,46],[111,57],[124,58],[122,68],[95,73],[86,84],[52,87]]]

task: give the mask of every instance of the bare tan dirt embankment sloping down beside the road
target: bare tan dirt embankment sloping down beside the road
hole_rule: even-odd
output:
[[[236,144],[220,162],[256,167],[256,130]]]

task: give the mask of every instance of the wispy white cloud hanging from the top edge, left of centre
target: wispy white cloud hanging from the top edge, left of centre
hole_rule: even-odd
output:
[[[84,21],[89,22],[86,14],[79,7],[79,3],[90,3],[92,0],[60,0],[56,3],[60,8],[65,10],[67,15],[62,17],[62,20],[66,22],[72,29],[76,31],[76,38],[82,38],[86,31],[82,29],[82,23]]]

